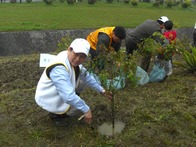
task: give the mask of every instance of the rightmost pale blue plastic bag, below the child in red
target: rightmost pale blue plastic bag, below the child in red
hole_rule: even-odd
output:
[[[159,82],[163,80],[165,76],[166,76],[166,72],[164,67],[161,66],[161,64],[159,63],[155,63],[149,75],[149,82]]]

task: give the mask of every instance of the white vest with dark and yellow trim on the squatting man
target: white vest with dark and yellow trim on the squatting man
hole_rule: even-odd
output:
[[[67,71],[69,72],[71,80],[70,82],[72,83],[73,88],[76,89],[78,87],[79,80],[75,80],[75,71],[69,63],[67,51],[63,51],[59,53],[57,55],[57,58],[55,58],[52,63],[44,70],[37,85],[35,101],[40,107],[49,112],[62,114],[70,109],[70,105],[65,103],[64,100],[60,97],[58,91],[56,90],[56,87],[46,73],[49,72],[47,71],[47,69],[54,67],[55,65],[65,66]],[[78,79],[80,79],[80,77]]]

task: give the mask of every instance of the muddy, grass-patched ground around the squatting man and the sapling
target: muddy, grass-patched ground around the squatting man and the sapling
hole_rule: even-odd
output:
[[[183,62],[181,57],[175,58],[175,61]],[[52,134],[59,135],[58,132],[61,132],[61,129],[53,128],[51,130],[54,125],[47,117],[48,113],[39,108],[34,101],[35,88],[43,72],[43,68],[39,67],[39,55],[1,57],[0,69],[0,127],[3,128],[0,133],[0,145],[53,144],[56,137]],[[148,83],[136,87],[132,87],[129,83],[126,84],[126,87],[115,95],[115,119],[126,124],[124,137],[121,138],[124,142],[116,140],[114,144],[126,146],[129,144],[130,139],[128,138],[132,138],[131,142],[134,145],[177,145],[176,141],[185,146],[194,146],[194,136],[196,135],[196,131],[193,131],[196,120],[195,83],[196,75],[194,73],[175,65],[173,74],[163,83]],[[91,90],[85,91],[81,97],[84,97],[93,111],[93,128],[98,128],[104,122],[111,122],[109,100]],[[62,134],[62,138],[68,137],[72,132],[71,129],[77,129],[78,125],[81,128],[81,125],[84,125],[83,123],[78,124],[76,119],[73,119],[74,123],[70,121],[64,124],[67,131]],[[189,123],[189,127],[185,127],[186,123]],[[146,128],[145,125],[149,125],[149,128]],[[149,131],[150,128],[152,132]],[[182,128],[187,129],[185,134],[180,133]],[[47,129],[49,133],[39,135],[39,130],[43,132]],[[138,134],[129,136],[131,133],[127,132],[131,130],[135,130],[134,132],[136,134],[138,132]],[[12,134],[9,133],[10,131]],[[80,133],[83,136],[87,135],[84,132]],[[158,135],[159,133],[164,133],[164,136]],[[154,135],[159,136],[162,141],[154,140],[152,143],[151,139]],[[173,135],[175,136],[174,141],[170,138]],[[92,134],[91,137],[93,137]],[[20,140],[21,138],[23,141]],[[64,143],[62,138],[58,138],[59,145]],[[37,144],[32,143],[32,140],[37,140]],[[167,140],[168,143],[165,144],[166,141],[163,140]],[[92,144],[95,142],[92,141]],[[70,138],[67,144],[78,145]],[[80,145],[82,145],[82,141]],[[83,145],[85,145],[85,141]]]

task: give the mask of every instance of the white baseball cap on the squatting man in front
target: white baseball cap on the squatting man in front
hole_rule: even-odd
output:
[[[84,53],[86,56],[88,56],[90,50],[89,42],[83,38],[75,39],[69,47],[71,47],[75,53]]]

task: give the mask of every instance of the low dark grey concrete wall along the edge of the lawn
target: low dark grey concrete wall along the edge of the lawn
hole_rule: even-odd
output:
[[[0,32],[0,56],[53,52],[61,38],[67,35],[72,38],[86,38],[93,30],[95,29]],[[177,29],[178,37],[186,37],[192,43],[193,30],[194,28]]]

